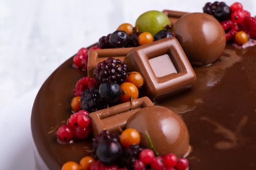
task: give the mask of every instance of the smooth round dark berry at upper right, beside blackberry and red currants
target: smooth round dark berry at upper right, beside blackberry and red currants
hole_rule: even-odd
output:
[[[214,12],[213,16],[220,22],[228,20],[231,17],[231,9],[226,4],[220,4],[216,8],[216,11]]]

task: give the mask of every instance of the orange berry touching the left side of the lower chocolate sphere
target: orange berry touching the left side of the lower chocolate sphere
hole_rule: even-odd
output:
[[[126,129],[120,136],[120,142],[125,148],[129,148],[131,145],[138,145],[140,143],[140,134],[135,129]]]

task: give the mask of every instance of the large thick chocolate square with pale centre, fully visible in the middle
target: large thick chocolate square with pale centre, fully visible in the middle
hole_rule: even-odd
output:
[[[151,99],[160,99],[190,88],[196,79],[186,54],[174,37],[132,49],[124,63],[129,71],[141,73],[146,95]]]

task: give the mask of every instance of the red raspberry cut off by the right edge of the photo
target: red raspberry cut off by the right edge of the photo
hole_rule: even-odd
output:
[[[242,31],[250,35],[250,38],[256,39],[256,18],[245,17],[244,21],[240,25]]]

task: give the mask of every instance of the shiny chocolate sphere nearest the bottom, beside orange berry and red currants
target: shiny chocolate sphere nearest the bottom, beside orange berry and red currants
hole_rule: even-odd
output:
[[[141,135],[140,145],[150,148],[145,134],[147,131],[161,156],[175,153],[181,157],[190,151],[189,132],[185,122],[165,107],[142,108],[128,119],[126,128],[136,129]]]

